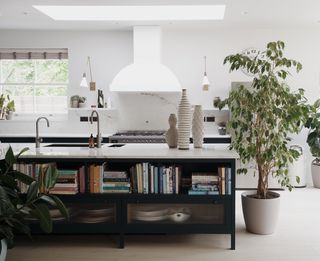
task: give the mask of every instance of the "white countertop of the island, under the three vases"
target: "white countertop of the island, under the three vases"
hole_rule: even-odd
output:
[[[69,159],[234,159],[238,158],[235,151],[228,149],[228,144],[204,144],[202,149],[189,150],[169,149],[167,144],[125,144],[123,147],[111,148],[105,144],[102,148],[87,147],[44,147],[36,149],[34,143],[12,144],[15,153],[22,148],[30,149],[20,158],[69,158]],[[8,146],[8,144],[2,144]]]

